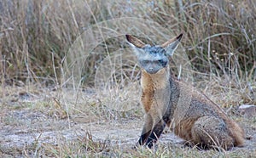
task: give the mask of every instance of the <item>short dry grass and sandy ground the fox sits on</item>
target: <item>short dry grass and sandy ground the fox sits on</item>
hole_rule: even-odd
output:
[[[3,90],[3,89],[1,89]],[[119,110],[114,100],[86,91],[6,87],[1,104],[2,156],[26,157],[251,157],[255,155],[255,119],[231,115],[253,138],[244,148],[230,151],[197,150],[162,135],[157,150],[131,150],[143,126],[143,110],[130,100]],[[128,92],[128,90],[127,90]],[[121,93],[121,92],[120,92]],[[131,94],[129,94],[131,95]],[[136,95],[137,97],[137,95]],[[128,102],[128,101],[127,101]],[[127,103],[126,102],[126,103]],[[122,102],[120,102],[122,105]],[[11,130],[10,130],[11,129]],[[171,137],[171,138],[170,138]],[[10,146],[9,146],[10,145]]]

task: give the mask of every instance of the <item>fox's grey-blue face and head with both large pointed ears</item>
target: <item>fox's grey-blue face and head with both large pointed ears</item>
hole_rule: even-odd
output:
[[[169,56],[172,56],[182,37],[183,34],[180,34],[162,45],[150,46],[136,37],[126,35],[127,41],[134,48],[139,65],[148,74],[155,74],[161,69],[166,68]]]

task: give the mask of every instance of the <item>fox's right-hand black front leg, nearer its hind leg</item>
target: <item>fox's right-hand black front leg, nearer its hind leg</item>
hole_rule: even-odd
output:
[[[146,144],[148,148],[151,149],[152,146],[157,142],[158,138],[160,138],[161,133],[163,133],[165,127],[166,123],[163,120],[158,121],[158,123],[154,125],[154,128],[147,139]]]

